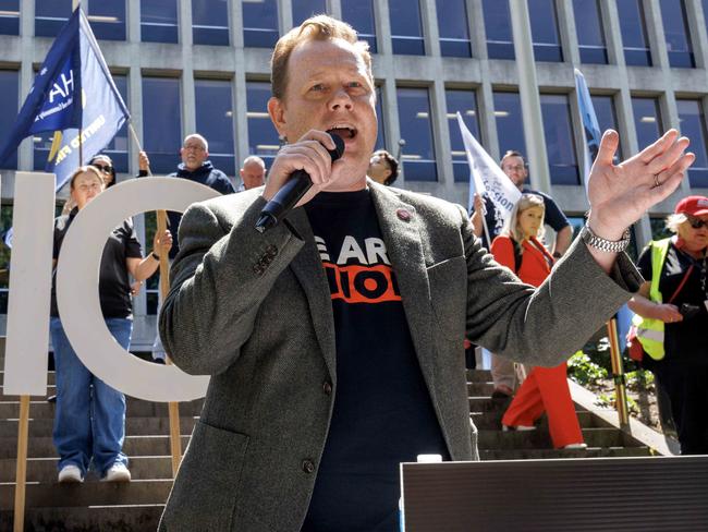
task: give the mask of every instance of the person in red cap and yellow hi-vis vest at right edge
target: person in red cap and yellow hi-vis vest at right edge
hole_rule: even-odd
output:
[[[642,363],[671,401],[681,454],[708,455],[708,197],[681,200],[667,227],[673,237],[639,255],[646,282],[630,309]]]

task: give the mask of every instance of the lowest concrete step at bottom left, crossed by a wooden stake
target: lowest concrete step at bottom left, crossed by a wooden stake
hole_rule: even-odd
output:
[[[164,505],[27,508],[33,532],[155,532]],[[0,511],[0,530],[12,530],[13,512]]]

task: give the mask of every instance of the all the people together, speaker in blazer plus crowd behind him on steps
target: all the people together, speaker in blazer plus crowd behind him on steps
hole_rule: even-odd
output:
[[[466,213],[392,188],[399,161],[373,149],[371,57],[346,24],[304,22],[278,41],[271,68],[268,111],[286,142],[270,168],[247,157],[234,186],[209,161],[207,140],[187,135],[171,176],[222,196],[170,213],[146,256],[125,220],[101,261],[106,324],[129,349],[131,294],[170,257],[154,355],[167,348],[187,373],[212,375],[160,530],[396,530],[399,462],[478,457],[465,337],[493,353],[495,394],[513,397],[505,428],[534,430],[546,412],[554,447],[584,448],[565,360],[631,298],[682,452],[708,452],[708,198],[679,202],[674,237],[639,257],[643,278],[623,253],[627,228],[692,164],[686,138],[672,130],[614,165],[618,135],[606,133],[588,220],[572,242],[553,200],[525,186],[518,152],[500,162],[522,192],[506,225],[484,195]],[[331,135],[345,144],[334,162]],[[147,154],[138,161],[149,174]],[[313,181],[303,208],[255,231],[265,202],[302,169]],[[74,172],[54,259],[74,217],[113,184],[106,155]],[[545,225],[556,231],[550,247]],[[82,482],[91,463],[103,480],[129,481],[124,396],[83,366],[56,302],[51,336],[59,481]],[[514,362],[526,370],[518,389]]]

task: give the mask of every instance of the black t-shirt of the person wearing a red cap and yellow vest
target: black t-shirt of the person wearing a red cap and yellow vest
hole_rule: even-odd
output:
[[[673,244],[669,246],[667,259],[663,263],[661,277],[659,278],[661,297],[664,302],[669,302],[693,264],[694,269],[691,276],[672,301],[672,304],[680,307],[682,303],[688,303],[698,306],[700,312],[694,317],[684,318],[682,322],[664,324],[663,347],[667,354],[661,363],[708,365],[708,341],[706,340],[708,311],[706,311],[704,304],[704,301],[708,300],[708,293],[700,287],[701,268],[706,268],[706,259],[696,261],[676,250]],[[647,281],[650,281],[654,277],[650,247],[645,247],[639,255],[637,269]],[[706,281],[706,288],[708,289],[708,281]],[[656,363],[648,356],[645,356],[645,360],[649,368],[652,363]]]

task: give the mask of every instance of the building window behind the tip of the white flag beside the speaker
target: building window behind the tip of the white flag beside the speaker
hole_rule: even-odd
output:
[[[457,111],[462,116],[465,125],[479,144],[479,122],[477,120],[477,95],[475,90],[468,89],[445,89],[445,106],[448,109],[448,129],[450,131],[450,154],[452,155],[452,173],[459,182],[469,181],[469,164],[465,145],[462,142],[460,125],[457,124]]]

